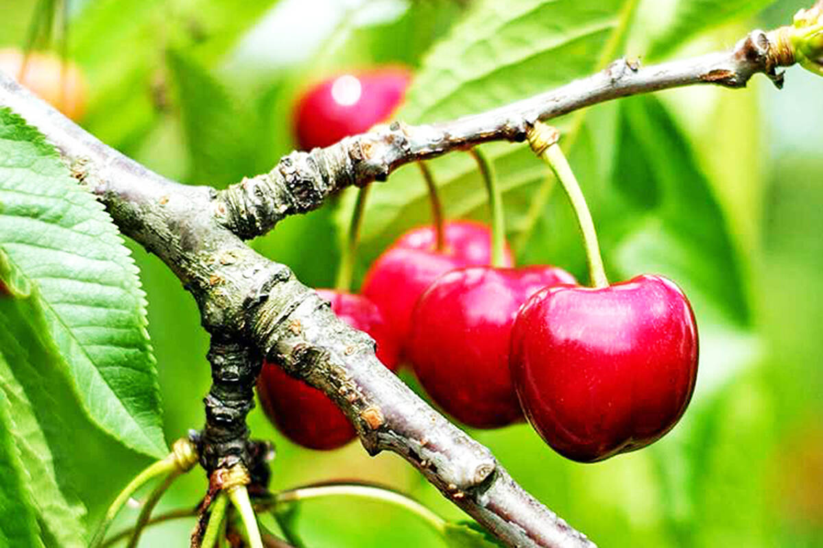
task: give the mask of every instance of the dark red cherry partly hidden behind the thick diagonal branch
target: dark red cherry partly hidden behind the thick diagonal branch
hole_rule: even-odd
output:
[[[318,289],[342,320],[370,334],[377,357],[388,369],[398,366],[398,346],[383,315],[365,297]],[[309,449],[337,449],[356,437],[351,423],[326,394],[286,374],[275,363],[263,361],[258,396],[269,419],[289,440]]]

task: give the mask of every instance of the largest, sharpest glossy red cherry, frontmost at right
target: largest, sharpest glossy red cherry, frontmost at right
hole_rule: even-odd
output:
[[[545,288],[512,330],[511,374],[528,421],[561,455],[590,463],[671,430],[697,376],[686,295],[661,276],[607,288]]]

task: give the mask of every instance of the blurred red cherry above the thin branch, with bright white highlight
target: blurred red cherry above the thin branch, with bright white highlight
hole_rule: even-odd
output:
[[[314,85],[295,110],[300,148],[333,145],[383,122],[402,103],[411,81],[407,69],[384,67],[335,76]]]

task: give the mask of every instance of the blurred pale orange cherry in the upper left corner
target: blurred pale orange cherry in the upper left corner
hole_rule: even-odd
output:
[[[72,120],[86,112],[88,90],[80,67],[74,62],[63,62],[52,53],[30,53],[23,68],[24,53],[18,48],[0,49],[0,71],[18,79],[32,92],[52,104]]]

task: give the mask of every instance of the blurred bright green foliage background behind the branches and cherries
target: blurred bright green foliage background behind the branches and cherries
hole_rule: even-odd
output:
[[[0,46],[23,43],[36,3],[0,0]],[[69,7],[69,56],[90,82],[84,127],[160,173],[221,187],[266,171],[293,148],[295,96],[323,76],[407,64],[418,76],[399,116],[433,121],[560,85],[622,53],[653,61],[728,47],[807,6],[86,0]],[[579,28],[581,21],[588,26]],[[571,162],[612,278],[659,271],[695,305],[695,398],[666,438],[604,463],[566,461],[526,425],[471,434],[600,546],[823,546],[823,81],[797,67],[786,81],[780,91],[756,77],[747,90],[690,88],[598,106],[575,140]],[[510,240],[522,243],[519,261],[555,263],[585,279],[583,248],[561,196],[551,194],[523,237],[545,177],[540,163],[523,147],[488,151],[506,189]],[[436,160],[433,168],[451,216],[487,217],[470,160]],[[372,192],[360,276],[393,237],[428,219],[417,177],[401,169]],[[344,195],[253,245],[305,283],[328,287],[350,207]],[[207,338],[180,283],[131,246],[148,294],[166,437],[175,440],[202,426]],[[259,409],[250,422],[255,437],[277,446],[273,489],[379,481],[461,518],[398,457],[370,458],[356,443],[307,451]],[[89,468],[76,482],[94,523],[147,460],[88,438],[80,447]],[[160,511],[192,506],[205,486],[202,473],[189,474]],[[119,525],[137,512],[127,509]],[[307,502],[298,524],[312,547],[442,546],[414,516],[360,500]],[[144,546],[182,546],[192,525],[154,527]]]

